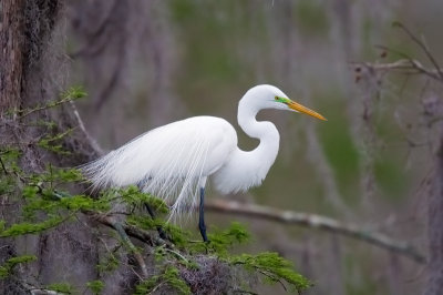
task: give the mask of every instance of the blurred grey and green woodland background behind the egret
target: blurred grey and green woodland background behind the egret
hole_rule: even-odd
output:
[[[421,185],[431,151],[412,149],[406,139],[432,136],[421,129],[421,100],[430,91],[420,77],[371,77],[351,63],[400,58],[384,57],[379,44],[423,60],[394,21],[443,60],[443,1],[116,2],[74,1],[68,8],[71,80],[90,93],[79,108],[101,146],[112,150],[155,126],[207,114],[227,119],[240,148],[254,149],[257,142],[236,123],[237,103],[253,85],[275,84],[329,121],[260,113],[280,131],[279,155],[260,187],[227,197],[324,214],[425,253]],[[208,196],[219,197],[210,185]],[[291,258],[316,283],[308,294],[416,294],[424,282],[422,265],[331,233],[207,218],[209,231],[236,220],[247,224],[254,233],[247,251]]]

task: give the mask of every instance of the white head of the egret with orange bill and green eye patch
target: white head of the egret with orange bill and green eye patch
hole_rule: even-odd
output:
[[[321,114],[291,101],[281,90],[272,85],[262,84],[251,88],[246,92],[245,98],[248,98],[249,103],[256,104],[259,109],[287,110],[327,121]]]

